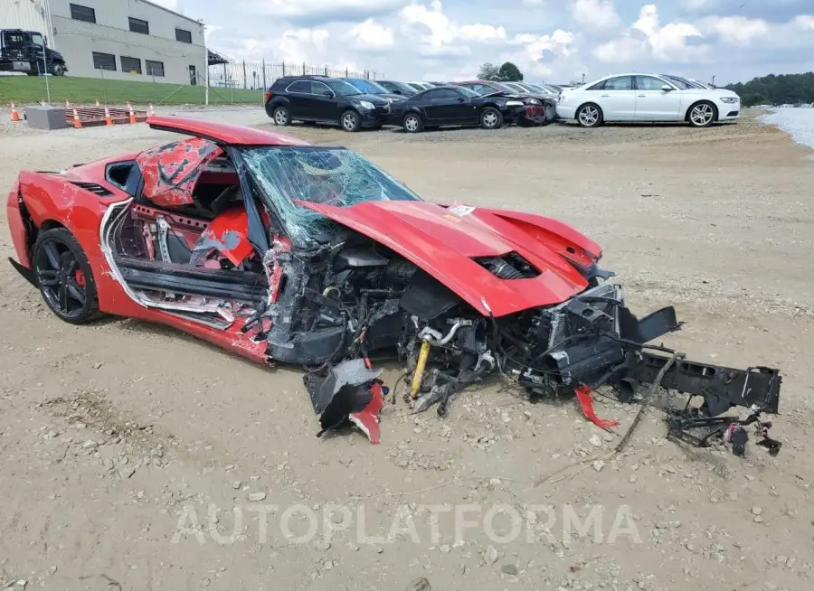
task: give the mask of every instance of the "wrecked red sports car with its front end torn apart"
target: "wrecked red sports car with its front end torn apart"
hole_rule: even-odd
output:
[[[671,411],[672,433],[739,453],[744,426],[765,436],[760,413],[778,411],[777,370],[649,345],[679,328],[675,310],[632,314],[598,267],[599,245],[562,222],[421,201],[342,147],[184,117],[147,123],[191,137],[22,172],[9,194],[12,264],[66,322],[136,317],[301,364],[323,430],[350,419],[373,441],[387,393],[374,354],[406,360],[406,398],[440,415],[500,373],[531,394],[575,392],[607,426],[592,389],[629,400],[656,383],[702,399]],[[725,415],[738,406],[749,417]]]

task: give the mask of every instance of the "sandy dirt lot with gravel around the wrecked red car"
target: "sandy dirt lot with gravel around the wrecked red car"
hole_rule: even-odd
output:
[[[205,116],[268,125],[256,109]],[[381,446],[317,439],[298,368],[140,322],[63,324],[4,264],[0,589],[812,588],[814,152],[749,117],[706,130],[289,131],[355,148],[428,200],[582,229],[631,305],[677,305],[686,326],[667,344],[781,368],[781,455],[677,446],[653,410],[622,455],[535,485],[607,455],[638,407],[598,400],[622,423],[611,435],[574,400],[532,404],[499,381],[443,420],[386,407]],[[0,188],[19,169],[169,137],[3,124]]]

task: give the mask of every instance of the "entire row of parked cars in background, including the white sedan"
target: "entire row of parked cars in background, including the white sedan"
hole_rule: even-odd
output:
[[[279,126],[302,121],[352,132],[392,125],[418,133],[442,126],[544,126],[556,118],[573,119],[582,127],[618,121],[708,127],[740,117],[740,103],[731,90],[664,74],[615,74],[571,88],[492,80],[285,76],[266,92],[265,108]]]

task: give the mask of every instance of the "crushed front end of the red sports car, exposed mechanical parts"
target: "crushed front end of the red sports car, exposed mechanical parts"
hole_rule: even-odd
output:
[[[428,290],[415,301],[433,297]],[[681,408],[664,408],[670,436],[698,446],[728,444],[742,455],[746,426],[754,425],[758,445],[772,455],[780,450],[768,436],[771,423],[761,420],[762,413],[779,410],[779,371],[689,361],[684,353],[649,344],[680,328],[672,306],[639,318],[625,305],[621,287],[599,276],[561,304],[499,318],[461,314],[454,305],[442,306],[438,295],[435,301],[435,308],[408,309],[412,385],[405,398],[415,411],[437,404],[443,416],[460,389],[499,372],[533,396],[575,394],[585,417],[607,429],[619,423],[596,416],[593,390],[611,387],[620,401],[641,397],[648,405],[663,388],[688,395]],[[748,412],[732,416],[733,408]]]

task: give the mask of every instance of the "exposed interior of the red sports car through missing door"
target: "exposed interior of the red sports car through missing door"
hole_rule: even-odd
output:
[[[247,248],[240,182],[229,158],[209,163],[194,184],[193,202],[174,207],[156,207],[137,187],[133,191],[137,169],[128,161],[110,164],[106,174],[134,196],[108,230],[110,252],[131,293],[142,304],[223,330],[254,314],[268,283],[260,258]]]

